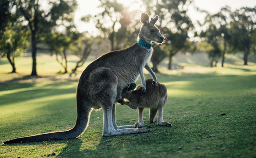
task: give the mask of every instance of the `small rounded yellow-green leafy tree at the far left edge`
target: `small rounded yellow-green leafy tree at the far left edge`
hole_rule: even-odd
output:
[[[26,51],[28,31],[18,23],[9,23],[0,39],[0,56],[6,56],[16,73],[15,57]]]

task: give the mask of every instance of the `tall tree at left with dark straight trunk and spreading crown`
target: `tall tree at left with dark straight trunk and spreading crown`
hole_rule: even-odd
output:
[[[31,34],[32,46],[32,76],[37,76],[37,44],[41,38],[51,32],[51,28],[56,22],[68,15],[69,8],[76,5],[76,0],[52,0],[49,2],[50,11],[41,8],[39,0],[16,0],[14,2],[16,12],[23,15],[21,20],[25,19],[28,23]]]

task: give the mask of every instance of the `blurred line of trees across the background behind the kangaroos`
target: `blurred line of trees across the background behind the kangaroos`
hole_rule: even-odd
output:
[[[91,52],[99,51],[93,47],[99,48],[102,38],[109,40],[109,44],[104,44],[109,45],[110,50],[123,49],[136,42],[141,11],[131,11],[116,0],[99,1],[102,12],[82,18],[84,22],[93,20],[99,31],[97,37],[78,32],[74,24],[76,0],[50,0],[47,8],[42,7],[40,0],[0,1],[0,55],[8,58],[13,72],[16,72],[14,58],[26,51],[30,43],[31,75],[37,76],[38,44],[43,43],[56,56],[64,73],[68,72],[68,54],[78,56],[76,67],[71,72],[76,73]],[[155,72],[166,57],[167,68],[172,69],[172,58],[178,53],[204,51],[211,67],[217,66],[220,58],[223,67],[227,53],[243,52],[244,65],[247,65],[248,55],[256,52],[256,7],[231,11],[226,6],[215,14],[200,11],[207,16],[204,23],[198,23],[202,31],[196,32],[187,14],[192,0],[141,0],[137,3],[147,14],[160,16],[156,25],[166,37],[164,44],[154,45],[151,60]],[[200,40],[194,40],[196,38]]]

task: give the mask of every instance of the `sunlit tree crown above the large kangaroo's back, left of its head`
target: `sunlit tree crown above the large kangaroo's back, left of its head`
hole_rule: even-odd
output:
[[[110,40],[111,50],[119,50],[135,42],[140,31],[138,11],[128,11],[116,0],[100,0],[103,11],[95,16],[88,15],[84,21],[94,20],[102,37]],[[134,19],[138,17],[137,19]]]

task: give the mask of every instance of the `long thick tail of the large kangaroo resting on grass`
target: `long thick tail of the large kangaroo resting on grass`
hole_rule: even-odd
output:
[[[81,135],[87,128],[90,119],[90,112],[92,109],[90,106],[85,105],[85,102],[77,101],[77,121],[75,126],[67,131],[45,133],[40,135],[31,135],[21,138],[16,138],[3,142],[4,144],[9,143],[26,143],[26,142],[38,142],[52,139],[70,139],[76,138]]]

